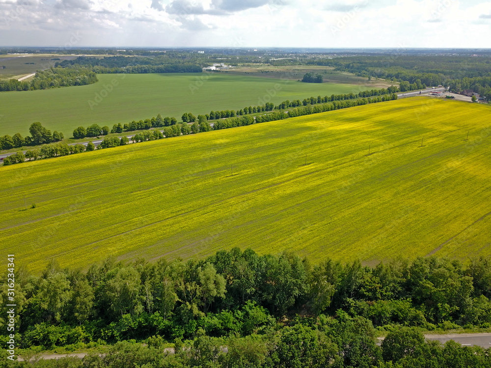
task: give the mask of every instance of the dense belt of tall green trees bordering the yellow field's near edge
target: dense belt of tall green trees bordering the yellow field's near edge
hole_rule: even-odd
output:
[[[151,346],[152,339],[179,342],[229,336],[257,338],[267,351],[269,345],[276,351],[276,338],[289,335],[292,328],[301,332],[298,341],[303,343],[313,338],[305,336],[319,338],[323,331],[326,337],[337,336],[339,340],[324,341],[325,348],[331,346],[332,359],[351,367],[345,360],[351,352],[359,354],[357,359],[368,359],[356,367],[371,367],[379,360],[403,359],[409,353],[406,349],[385,351],[397,344],[420,346],[422,356],[442,358],[436,344],[429,345],[432,354],[424,352],[424,339],[416,337],[413,328],[490,328],[490,281],[488,259],[464,266],[456,260],[419,257],[370,267],[358,261],[313,264],[290,253],[260,256],[251,249],[234,248],[201,260],[122,263],[109,258],[86,272],[62,269],[52,261],[39,276],[22,269],[16,275],[16,341],[21,348],[54,349],[132,339]],[[5,283],[0,288],[4,301]],[[338,336],[341,331],[347,335]],[[389,333],[380,350],[376,331],[405,336],[395,343]],[[355,343],[353,334],[358,333],[355,340],[362,339]],[[295,336],[291,338],[292,346],[297,346]],[[5,339],[0,337],[2,343]],[[420,359],[420,354],[412,358]]]

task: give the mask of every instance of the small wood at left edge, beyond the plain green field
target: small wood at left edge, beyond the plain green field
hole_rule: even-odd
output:
[[[0,92],[86,85],[95,83],[97,80],[96,74],[87,68],[57,67],[38,71],[30,82],[17,79],[0,79]]]

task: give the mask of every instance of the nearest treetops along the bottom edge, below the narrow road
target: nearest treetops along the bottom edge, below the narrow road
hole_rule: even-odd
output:
[[[224,348],[226,346],[226,350]],[[374,330],[363,318],[340,315],[317,323],[299,320],[268,334],[213,338],[200,334],[190,341],[175,342],[175,354],[164,349],[160,336],[146,344],[118,342],[103,356],[87,354],[82,359],[8,362],[0,355],[0,367],[16,368],[490,368],[491,349],[444,345],[425,341],[414,329],[390,332],[381,346]],[[3,350],[5,351],[5,350]]]

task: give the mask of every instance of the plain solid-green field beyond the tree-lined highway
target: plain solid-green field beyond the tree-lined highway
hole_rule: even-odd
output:
[[[93,123],[112,127],[115,123],[147,119],[159,113],[180,119],[184,112],[197,116],[210,110],[263,105],[260,99],[269,97],[269,93],[273,95],[271,102],[278,104],[285,100],[367,89],[355,84],[302,83],[223,72],[211,75],[102,74],[97,77],[99,82],[86,86],[0,93],[0,105],[4,106],[0,111],[0,135],[17,132],[28,135],[30,124],[39,121],[51,131],[62,131],[65,137],[71,137],[75,128]],[[107,92],[104,86],[111,85],[112,80],[117,85],[108,87],[112,90]],[[101,101],[96,99],[96,94],[107,96]],[[90,105],[89,101],[97,105]]]

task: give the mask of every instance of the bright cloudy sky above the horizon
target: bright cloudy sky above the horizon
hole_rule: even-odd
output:
[[[0,0],[0,46],[491,48],[487,0]]]

